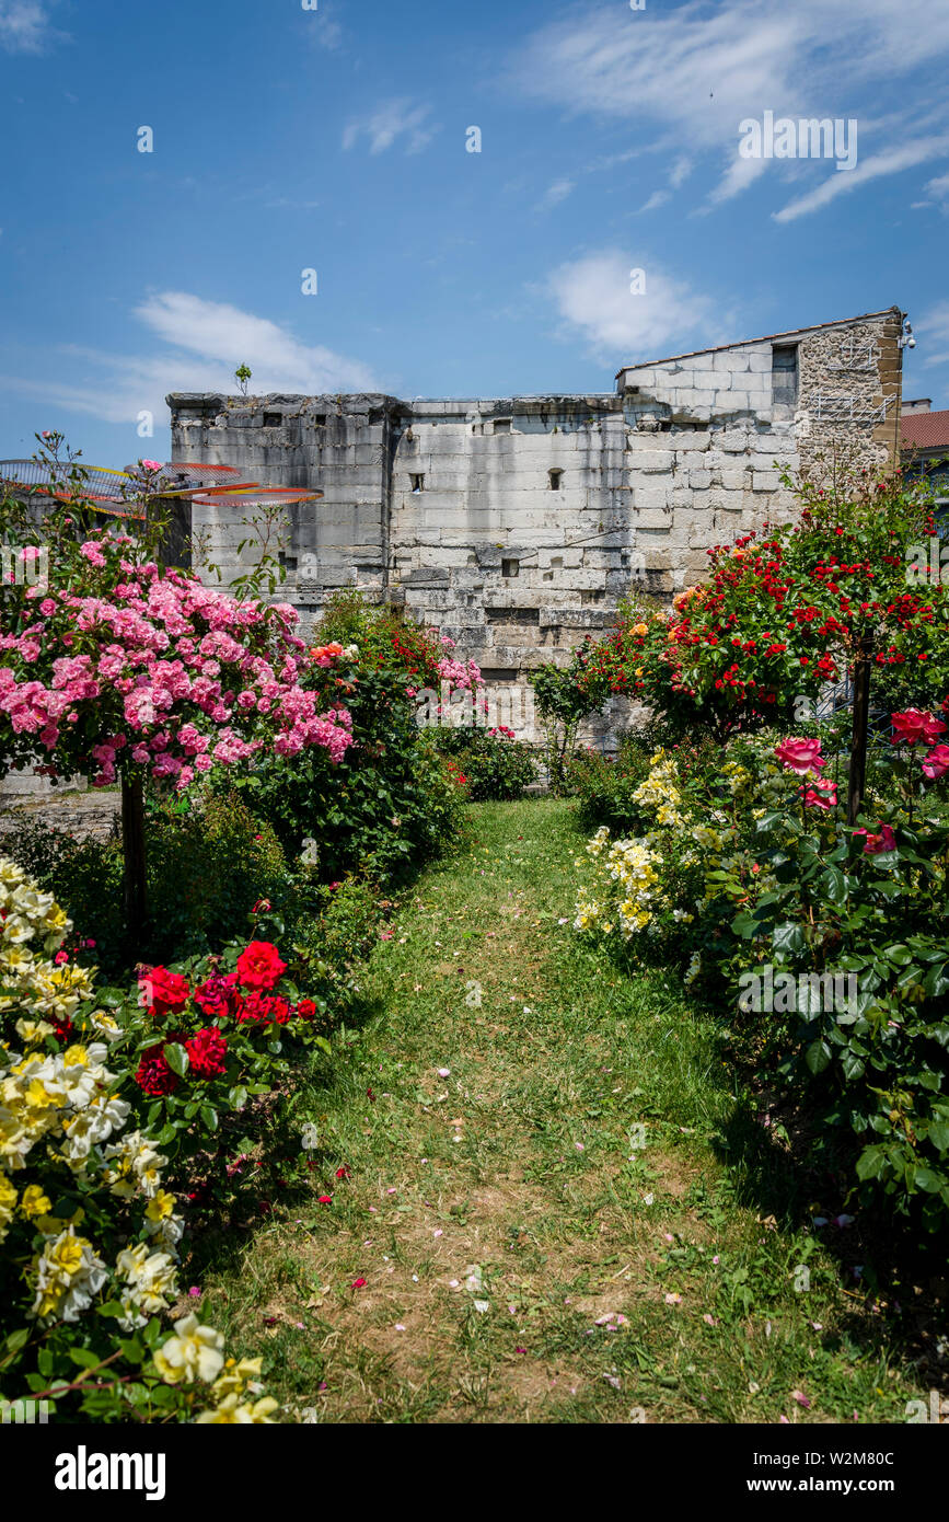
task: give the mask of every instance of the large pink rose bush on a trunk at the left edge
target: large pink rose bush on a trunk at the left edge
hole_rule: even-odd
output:
[[[56,562],[61,557],[56,557]],[[58,584],[56,584],[58,583]],[[105,787],[128,767],[187,788],[262,752],[319,746],[338,764],[348,711],[301,685],[306,645],[286,606],[240,601],[94,534],[50,586],[12,587],[0,633],[3,763],[46,756]]]

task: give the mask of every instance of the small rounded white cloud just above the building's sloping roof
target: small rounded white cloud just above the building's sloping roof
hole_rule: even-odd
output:
[[[645,269],[645,292],[630,289],[631,271]],[[592,350],[616,365],[645,361],[672,344],[709,333],[715,303],[660,269],[637,265],[617,248],[560,265],[546,294],[567,330],[579,332]]]

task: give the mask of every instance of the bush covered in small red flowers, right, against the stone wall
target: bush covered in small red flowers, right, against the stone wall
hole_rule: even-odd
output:
[[[792,486],[789,479],[785,482]],[[709,577],[665,613],[642,600],[589,641],[579,693],[639,697],[681,731],[800,723],[829,683],[871,664],[873,702],[899,709],[949,686],[949,586],[914,559],[935,533],[932,498],[900,472],[798,484],[795,522],[709,551]]]

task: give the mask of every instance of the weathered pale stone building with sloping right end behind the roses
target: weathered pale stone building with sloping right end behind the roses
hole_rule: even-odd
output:
[[[668,600],[712,545],[786,517],[782,472],[891,458],[902,321],[891,307],[628,365],[599,396],[173,394],[172,458],[319,489],[289,510],[281,598],[306,622],[338,587],[402,601],[516,697],[633,584]],[[236,517],[195,507],[225,575]]]

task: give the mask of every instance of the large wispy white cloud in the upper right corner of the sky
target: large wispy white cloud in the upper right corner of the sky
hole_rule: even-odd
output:
[[[912,103],[922,96],[906,91],[905,81],[917,67],[938,78],[938,61],[946,58],[949,6],[932,6],[932,0],[899,6],[891,0],[835,0],[830,6],[826,0],[795,0],[794,6],[686,0],[642,12],[599,3],[575,6],[532,33],[509,81],[522,96],[560,110],[628,120],[639,142],[672,143],[690,158],[724,152],[722,178],[710,198],[721,202],[765,167],[800,172],[780,161],[739,158],[741,120],[759,119],[765,110],[776,117],[858,116],[861,131],[879,126],[888,134],[888,151],[897,152],[900,142],[919,139],[923,128]],[[884,93],[900,90],[900,82],[902,129],[874,120]],[[862,116],[858,91],[868,107]],[[655,192],[646,205],[663,204],[660,196]]]

